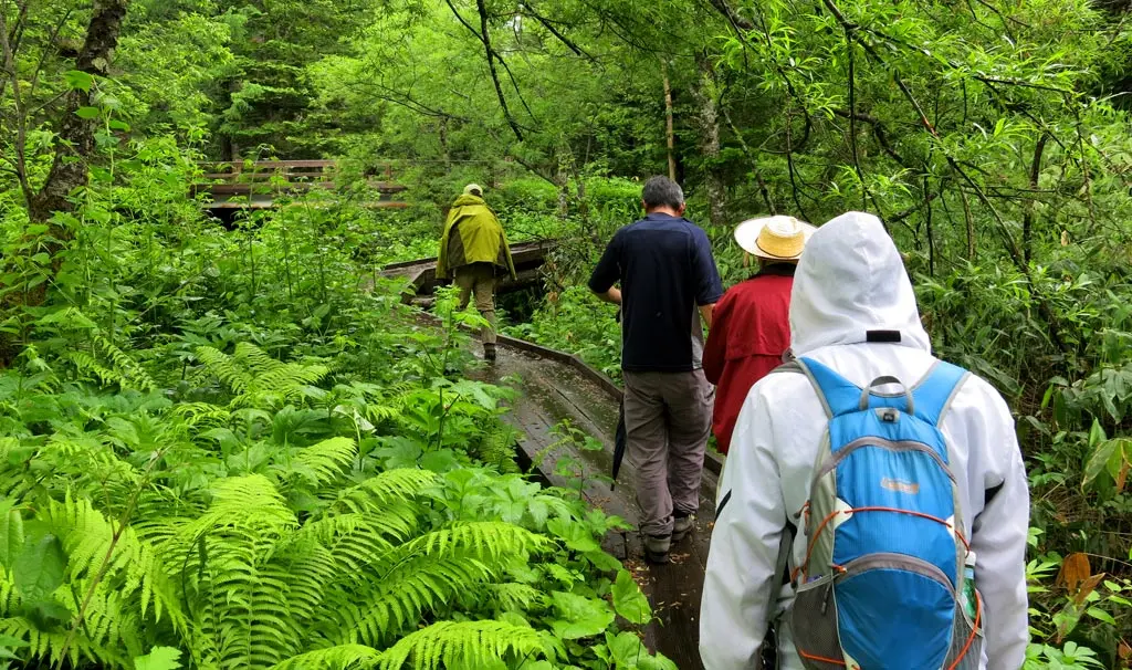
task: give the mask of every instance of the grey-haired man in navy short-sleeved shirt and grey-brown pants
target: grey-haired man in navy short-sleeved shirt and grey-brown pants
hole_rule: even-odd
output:
[[[626,453],[636,469],[645,557],[667,562],[700,506],[713,400],[700,319],[711,326],[723,287],[707,235],[684,218],[680,187],[654,177],[642,200],[646,216],[617,231],[590,290],[621,306]]]

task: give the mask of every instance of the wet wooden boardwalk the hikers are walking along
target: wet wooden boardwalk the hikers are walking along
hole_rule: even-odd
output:
[[[516,264],[520,255],[526,255],[525,258],[533,263],[533,259],[544,254],[547,246],[547,242],[514,246]],[[430,263],[435,269],[435,259],[422,259],[387,266],[381,274],[404,277],[410,290],[427,290]],[[640,507],[633,493],[635,473],[628,459],[623,464],[618,483],[612,489],[607,482],[593,476],[608,475],[612,467],[620,388],[601,372],[564,352],[504,336],[499,338],[498,351],[496,364],[486,367],[477,376],[484,381],[512,385],[520,392],[504,419],[525,436],[520,444],[521,461],[525,461],[528,465],[539,462],[532,474],[542,481],[573,487],[578,486],[577,481],[558,475],[556,464],[563,459],[582,463],[588,473],[582,479],[585,500],[635,526],[640,518]],[[603,449],[588,450],[560,444],[552,430],[564,420],[599,440]],[[672,547],[670,564],[645,564],[641,558],[640,539],[633,531],[610,534],[604,542],[606,548],[633,572],[652,603],[657,621],[645,628],[645,644],[650,650],[660,651],[675,661],[680,670],[703,669],[697,648],[700,598],[707,565],[711,529],[714,525],[715,488],[721,469],[722,461],[714,454],[709,454],[700,489],[696,531]]]

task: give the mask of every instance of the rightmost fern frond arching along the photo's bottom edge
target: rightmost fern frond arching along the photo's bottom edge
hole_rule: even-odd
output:
[[[539,633],[503,621],[438,621],[405,636],[381,654],[378,668],[400,670],[412,658],[413,670],[484,665],[509,653],[542,655]]]

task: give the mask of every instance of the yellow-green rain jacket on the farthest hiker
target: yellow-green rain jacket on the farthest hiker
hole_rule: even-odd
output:
[[[440,235],[440,254],[436,276],[447,278],[457,267],[472,263],[491,263],[515,277],[507,234],[483,198],[462,195],[452,204],[448,221]]]

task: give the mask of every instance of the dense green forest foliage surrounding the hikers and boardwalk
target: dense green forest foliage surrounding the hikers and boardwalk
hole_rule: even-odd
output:
[[[511,332],[616,373],[584,280],[671,165],[728,283],[741,218],[884,220],[937,352],[1018,418],[1029,667],[1126,664],[1126,11],[0,0],[0,663],[664,667],[614,625],[649,618],[595,540],[618,521],[515,471],[473,317],[428,326],[375,270],[484,183],[513,240],[559,241]],[[343,161],[226,226],[188,195],[267,157]],[[408,209],[365,206],[387,165]]]

